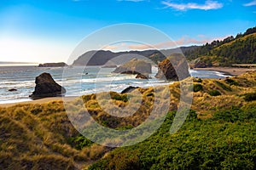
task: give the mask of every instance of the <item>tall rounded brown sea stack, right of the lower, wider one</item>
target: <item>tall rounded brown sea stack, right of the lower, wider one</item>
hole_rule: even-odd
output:
[[[159,63],[158,72],[155,77],[173,81],[183,80],[189,77],[189,65],[185,59],[178,57],[164,59]]]

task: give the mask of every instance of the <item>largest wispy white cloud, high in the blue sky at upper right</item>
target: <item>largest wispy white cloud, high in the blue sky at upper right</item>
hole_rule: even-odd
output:
[[[186,11],[189,9],[201,9],[210,10],[222,8],[223,4],[217,1],[207,0],[204,4],[199,3],[172,3],[171,1],[162,1],[162,4],[166,5],[166,8],[175,8],[177,10]]]

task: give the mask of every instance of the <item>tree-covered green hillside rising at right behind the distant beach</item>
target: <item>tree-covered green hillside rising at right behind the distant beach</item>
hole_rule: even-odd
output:
[[[255,64],[256,63],[256,27],[249,28],[236,37],[226,37],[223,41],[206,43],[201,48],[184,52],[185,56],[195,59],[195,66]]]

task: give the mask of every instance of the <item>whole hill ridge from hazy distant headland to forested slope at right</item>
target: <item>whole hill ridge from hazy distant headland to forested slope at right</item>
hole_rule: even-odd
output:
[[[234,64],[255,64],[256,63],[256,27],[249,28],[244,33],[238,33],[236,37],[230,36],[224,40],[215,40],[202,46],[189,46],[172,49],[143,51],[89,51],[73,61],[73,65],[121,65],[133,59],[135,55],[151,59],[159,63],[166,59],[166,56],[183,52],[191,65],[195,67],[207,66],[231,66]],[[91,57],[92,56],[92,57]],[[120,57],[119,57],[120,56]],[[91,59],[89,60],[89,58]],[[118,58],[119,57],[119,58]],[[118,59],[115,59],[118,58]]]

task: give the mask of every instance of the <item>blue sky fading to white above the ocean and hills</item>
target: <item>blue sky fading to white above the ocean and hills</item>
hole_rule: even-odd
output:
[[[255,19],[256,0],[0,0],[0,61],[65,62],[84,37],[123,23],[150,26],[177,46],[189,46],[236,36],[256,26]],[[169,42],[153,43],[172,48]],[[99,48],[148,46],[120,42],[86,50]]]

